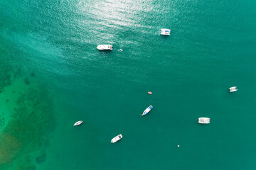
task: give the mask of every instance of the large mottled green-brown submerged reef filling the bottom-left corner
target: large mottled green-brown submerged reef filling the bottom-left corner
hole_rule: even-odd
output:
[[[53,104],[44,86],[19,95],[0,134],[0,169],[36,169],[46,159],[46,137],[54,128]]]

